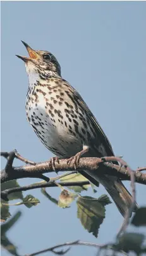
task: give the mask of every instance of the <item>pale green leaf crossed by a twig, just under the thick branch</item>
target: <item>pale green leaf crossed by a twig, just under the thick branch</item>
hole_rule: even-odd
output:
[[[66,182],[76,182],[76,181],[88,181],[85,177],[83,177],[81,174],[70,174],[69,176],[62,177],[60,181],[66,181]],[[76,193],[81,193],[81,191],[87,190],[90,187],[90,184],[80,186],[68,186],[69,189],[72,189]]]

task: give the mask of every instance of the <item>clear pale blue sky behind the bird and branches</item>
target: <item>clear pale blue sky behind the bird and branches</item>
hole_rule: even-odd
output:
[[[1,3],[1,150],[16,148],[21,155],[40,162],[52,157],[28,124],[25,98],[28,78],[23,61],[27,54],[20,40],[34,49],[51,51],[61,64],[62,76],[85,99],[113,145],[116,155],[133,169],[145,165],[146,144],[146,3],[145,2],[49,2]],[[4,167],[5,160],[1,159]],[[21,162],[15,160],[15,165]],[[39,181],[20,180],[21,185]],[[130,188],[129,182],[125,182]],[[59,189],[47,191],[58,198]],[[92,190],[99,197],[104,188]],[[106,219],[98,238],[83,229],[76,218],[76,203],[61,209],[40,190],[24,193],[40,200],[37,207],[18,209],[21,220],[8,237],[21,254],[35,252],[64,241],[106,243],[115,238],[123,217],[114,203],[106,207]],[[83,195],[87,195],[83,193]],[[137,202],[145,203],[145,187],[137,184]],[[95,249],[72,248],[68,255],[94,253]],[[8,253],[3,252],[3,256]]]

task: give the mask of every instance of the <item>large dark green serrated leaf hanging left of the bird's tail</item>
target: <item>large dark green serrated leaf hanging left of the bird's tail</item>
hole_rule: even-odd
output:
[[[80,219],[82,226],[97,238],[100,224],[105,217],[104,204],[90,196],[80,196],[76,203],[77,217]]]

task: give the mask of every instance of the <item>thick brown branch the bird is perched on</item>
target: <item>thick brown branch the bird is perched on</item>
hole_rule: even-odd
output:
[[[10,153],[8,152],[1,153],[1,156],[6,157],[8,159],[6,163],[6,167],[3,170],[1,170],[1,183],[6,181],[11,181],[13,179],[21,179],[25,177],[33,177],[33,178],[35,177],[35,178],[44,179],[47,182],[49,181],[49,178],[44,176],[43,174],[54,172],[51,161],[34,164],[34,162],[28,161],[26,160],[26,158],[21,157],[21,160],[22,158],[25,159],[25,161],[23,162],[29,162],[29,163],[31,162],[33,163],[33,165],[29,164],[29,165],[23,165],[20,167],[13,167],[13,160],[15,158],[18,158],[18,154],[16,153],[17,153],[16,150],[11,151]],[[118,161],[118,159],[121,159],[121,158],[114,157],[114,160]],[[109,161],[112,161],[112,159]],[[64,170],[72,171],[75,169],[75,167],[73,166],[73,163],[71,163],[70,165],[66,163],[66,159],[59,160],[59,163],[56,161],[55,166],[56,166],[56,171],[64,171]],[[143,167],[143,170],[145,169],[146,167]],[[119,165],[105,162],[103,158],[95,158],[95,157],[80,158],[78,171],[82,173],[83,170],[90,170],[91,172],[98,171],[99,175],[108,174],[109,176],[119,177],[119,179],[121,180],[130,181],[130,173],[125,168],[125,166],[119,167]],[[135,174],[135,182],[138,182],[140,184],[146,184],[146,174],[143,174],[139,170],[135,171],[134,174]]]

